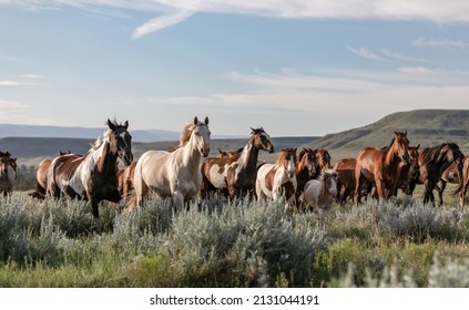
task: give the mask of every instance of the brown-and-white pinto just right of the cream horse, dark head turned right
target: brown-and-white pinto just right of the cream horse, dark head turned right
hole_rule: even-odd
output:
[[[274,153],[274,145],[264,128],[251,130],[251,138],[241,153],[232,157],[207,158],[202,163],[202,198],[212,190],[221,190],[225,196],[234,198],[254,189],[259,151]]]

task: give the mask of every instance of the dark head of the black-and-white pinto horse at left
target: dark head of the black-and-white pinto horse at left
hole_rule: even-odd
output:
[[[125,166],[129,166],[133,162],[132,136],[128,132],[129,121],[125,121],[123,125],[119,125],[108,120],[108,126],[112,132],[113,142],[111,142],[111,145],[114,148],[113,153],[124,162]]]

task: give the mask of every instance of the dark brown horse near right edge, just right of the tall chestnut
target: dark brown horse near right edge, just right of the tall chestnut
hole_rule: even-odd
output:
[[[462,165],[465,155],[462,155],[456,143],[443,143],[434,147],[426,147],[419,151],[418,164],[420,166],[420,177],[418,182],[410,182],[410,193],[414,192],[416,184],[424,184],[424,203],[435,204],[434,189],[441,179],[443,172],[452,164],[456,165],[456,173],[459,179],[457,192],[460,192],[463,185]],[[462,195],[462,194],[461,194]],[[440,200],[442,203],[442,200]],[[460,203],[463,204],[463,197]]]

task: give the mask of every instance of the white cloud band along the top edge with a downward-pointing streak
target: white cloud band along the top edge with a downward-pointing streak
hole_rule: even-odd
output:
[[[469,22],[466,0],[0,0],[0,6],[27,9],[73,7],[85,11],[144,11],[163,14],[140,25],[133,38],[174,25],[192,13],[255,14],[287,19],[428,20],[437,23]],[[191,12],[191,13],[187,13]]]

